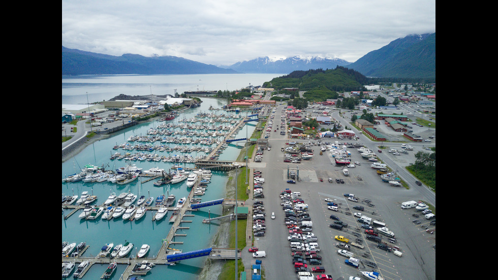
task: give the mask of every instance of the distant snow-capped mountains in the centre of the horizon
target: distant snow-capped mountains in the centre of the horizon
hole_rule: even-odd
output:
[[[222,67],[243,73],[291,73],[296,70],[334,69],[337,65],[346,66],[349,64],[351,63],[340,58],[295,55],[287,58],[258,57]]]

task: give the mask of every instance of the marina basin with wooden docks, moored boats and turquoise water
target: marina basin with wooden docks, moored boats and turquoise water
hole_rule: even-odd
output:
[[[202,108],[203,106],[192,110],[200,111]],[[203,117],[197,115],[195,112],[192,112],[192,114],[196,115],[199,119],[203,119],[202,122],[205,122],[205,119],[209,119],[207,123],[209,123],[210,119],[213,118],[212,115],[208,114],[205,114]],[[107,210],[109,206],[113,206],[115,207],[114,213],[116,213],[119,207],[123,207],[123,205],[119,203],[120,201],[124,201],[123,197],[119,198],[121,195],[117,195],[118,198],[114,201],[114,203],[109,205],[104,204],[106,201],[109,202],[109,199],[113,199],[109,195],[109,189],[111,190],[111,194],[114,193],[114,195],[131,193],[135,195],[139,194],[139,197],[143,195],[145,198],[153,197],[155,199],[160,195],[168,197],[169,195],[174,194],[176,196],[176,200],[185,197],[185,203],[183,203],[178,209],[175,207],[176,202],[171,206],[163,206],[166,208],[167,213],[164,217],[162,217],[162,219],[158,220],[155,219],[155,216],[162,205],[155,205],[153,202],[148,206],[144,206],[145,214],[141,217],[141,219],[134,219],[132,221],[123,220],[122,215],[114,217],[113,214],[110,215],[110,219],[108,217],[109,214],[107,214],[107,219],[102,219],[102,215],[100,215],[93,220],[80,220],[77,215],[74,214],[83,211],[85,207],[84,203],[63,203],[63,241],[66,239],[78,239],[77,236],[80,235],[79,238],[85,238],[86,244],[88,244],[77,257],[71,259],[76,263],[76,266],[84,261],[88,261],[86,270],[79,272],[78,277],[83,277],[87,271],[93,271],[93,268],[97,266],[101,267],[99,268],[99,270],[101,270],[100,273],[94,272],[92,275],[99,274],[98,276],[101,277],[103,276],[103,272],[107,269],[107,266],[112,262],[115,262],[117,265],[114,276],[122,275],[123,279],[127,279],[129,275],[132,275],[131,273],[133,269],[143,260],[155,264],[153,268],[147,270],[152,272],[168,270],[171,267],[175,267],[183,263],[188,265],[188,267],[191,267],[190,269],[203,266],[206,258],[185,257],[186,259],[182,260],[178,264],[176,262],[168,262],[167,256],[175,254],[175,252],[188,253],[195,252],[197,250],[207,250],[207,248],[210,248],[210,238],[212,238],[213,234],[217,231],[216,225],[213,226],[212,224],[205,224],[203,223],[203,220],[207,218],[207,213],[209,213],[211,217],[220,216],[223,207],[231,206],[234,202],[232,203],[227,200],[227,202],[220,203],[219,206],[216,206],[218,204],[210,204],[204,209],[193,209],[192,205],[195,205],[200,201],[209,202],[224,198],[227,173],[223,171],[231,170],[245,164],[242,162],[235,162],[234,160],[239,154],[240,149],[243,145],[245,145],[246,133],[252,134],[255,129],[253,126],[249,126],[247,129],[248,132],[246,132],[245,129],[242,131],[241,128],[244,127],[245,122],[244,117],[240,114],[239,117],[228,118],[230,121],[224,120],[224,122],[216,123],[214,119],[221,120],[222,118],[213,118],[213,123],[217,127],[212,134],[205,136],[202,134],[196,135],[194,133],[193,135],[189,135],[189,133],[184,133],[183,138],[181,137],[182,131],[185,130],[185,132],[187,132],[190,130],[189,127],[184,128],[185,123],[192,122],[194,120],[191,117],[181,118],[180,116],[180,118],[176,118],[174,120],[163,122],[152,121],[150,123],[145,123],[139,125],[138,127],[140,128],[137,128],[137,126],[132,127],[123,131],[123,133],[119,136],[99,141],[103,142],[99,143],[101,144],[100,146],[102,146],[102,148],[98,148],[99,150],[95,147],[87,147],[86,149],[91,150],[94,148],[95,150],[88,153],[80,153],[82,155],[81,157],[80,154],[78,154],[74,161],[68,161],[63,164],[63,174],[78,173],[78,162],[93,162],[95,163],[94,166],[101,166],[100,170],[97,168],[98,171],[93,172],[111,173],[110,170],[115,171],[120,169],[120,167],[123,167],[124,169],[124,167],[127,166],[142,168],[142,173],[136,174],[136,179],[124,184],[114,183],[112,180],[104,180],[101,182],[83,182],[82,180],[72,181],[66,179],[69,178],[69,176],[63,175],[63,194],[68,194],[66,197],[73,197],[81,194],[84,190],[87,192],[88,196],[96,197],[93,202],[87,204],[87,206],[94,208],[99,209],[99,207],[103,207],[103,210]],[[230,128],[226,128],[224,130],[222,124],[227,122],[229,122]],[[173,123],[175,128],[173,129],[173,126],[167,125],[167,123]],[[181,128],[180,124],[183,125]],[[178,131],[176,136],[174,135],[174,131],[171,132],[172,138],[167,138],[166,135],[170,133],[167,132],[169,126],[171,126],[172,131]],[[153,129],[151,129],[151,127]],[[200,133],[197,130],[197,127],[191,129],[196,131],[196,133]],[[158,130],[156,137],[161,135],[159,134],[159,131],[165,131],[161,140],[152,138],[152,135],[156,133],[154,130]],[[117,144],[117,140],[115,138],[124,139],[126,142],[123,144]],[[148,142],[145,140],[147,138]],[[180,138],[182,139],[180,140]],[[192,140],[189,142],[189,139],[187,138],[192,138]],[[241,144],[238,142],[235,142],[234,144],[229,142],[227,144],[224,141],[225,139],[237,140],[242,138],[243,140],[240,140]],[[164,139],[166,140],[162,142]],[[103,152],[106,148],[108,152]],[[118,155],[118,153],[120,154]],[[197,155],[191,155],[190,153],[196,153]],[[96,154],[101,155],[98,160],[96,160]],[[105,156],[105,154],[108,155]],[[90,155],[90,157],[88,157],[88,155]],[[120,158],[123,155],[124,157]],[[109,170],[102,171],[103,166],[106,166]],[[164,169],[166,174],[145,174],[145,172],[143,172],[144,170],[151,170],[152,168]],[[172,172],[178,170],[178,168],[181,168],[186,172],[194,172],[199,170],[198,172],[203,173],[198,175],[199,179],[191,187],[186,185],[187,180],[172,184],[171,179],[174,176]],[[71,169],[73,169],[74,172],[72,172]],[[212,170],[212,172],[209,172],[209,170]],[[169,175],[172,176],[168,177]],[[167,180],[159,185],[155,184],[155,182],[162,178]],[[199,186],[199,184],[202,184],[202,186]],[[200,192],[203,192],[202,196],[197,196],[201,194]],[[136,202],[137,201],[135,200],[133,203]],[[174,216],[174,219],[172,219],[172,222],[169,222],[171,220],[171,216]],[[71,226],[69,226],[69,224],[71,224]],[[101,224],[107,226],[102,228]],[[75,228],[74,230],[72,230],[73,227]],[[166,233],[164,231],[165,227]],[[77,232],[77,228],[82,228],[82,230],[80,230],[82,233],[88,231],[95,233],[82,235]],[[192,228],[204,228],[204,230],[190,231]],[[109,242],[109,240],[102,240],[99,238],[100,234],[98,234],[98,232],[102,232],[102,230],[104,230],[108,236],[112,236],[112,241],[114,241],[114,244],[116,245],[118,243],[124,243],[122,241],[119,242],[119,240],[130,240],[135,244],[135,248],[132,250],[128,258],[117,257],[111,259],[97,257],[100,252],[100,250],[98,250],[100,249],[100,246]],[[202,231],[205,230],[207,230],[208,234],[202,234]],[[65,232],[68,231],[72,232],[72,234],[65,234]],[[76,238],[72,236],[76,236]],[[88,237],[92,240],[88,240]],[[137,238],[138,240],[133,240]],[[196,242],[189,242],[189,240],[196,240]],[[141,244],[150,245],[149,252],[145,258],[137,258]],[[96,250],[99,252],[96,252]],[[222,250],[222,248],[218,248],[216,250]],[[230,251],[229,249],[226,250]],[[228,252],[227,254],[224,253],[217,255],[226,255],[227,258],[234,258],[230,257],[234,256],[234,254],[235,251],[233,251],[233,253]],[[204,256],[207,256],[208,258],[220,257],[213,256],[213,254],[207,254]],[[68,261],[67,257],[63,256],[63,261]],[[191,271],[186,274],[183,273],[183,276],[182,273],[178,273],[178,275],[172,276],[171,279],[193,279],[192,276],[189,276],[192,273],[195,272]],[[154,274],[156,275],[155,277]],[[156,273],[148,273],[145,276],[145,279],[159,278],[161,277],[158,277],[158,274]]]

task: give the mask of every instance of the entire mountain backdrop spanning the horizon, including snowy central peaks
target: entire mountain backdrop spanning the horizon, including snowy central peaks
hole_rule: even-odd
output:
[[[344,66],[367,77],[435,78],[435,33],[409,35],[371,51],[354,63],[340,58],[268,56],[216,67],[176,56],[113,56],[62,47],[63,75],[291,73]]]

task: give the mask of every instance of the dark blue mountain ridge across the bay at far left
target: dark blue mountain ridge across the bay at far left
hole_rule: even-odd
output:
[[[237,72],[176,56],[114,56],[62,47],[63,75],[232,73]]]

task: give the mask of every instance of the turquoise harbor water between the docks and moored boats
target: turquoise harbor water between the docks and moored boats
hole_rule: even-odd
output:
[[[177,123],[178,120],[188,119],[196,116],[198,113],[214,113],[214,110],[208,110],[210,106],[214,108],[221,108],[226,102],[217,99],[209,99],[203,98],[203,103],[201,107],[189,109],[186,112],[177,116],[174,120],[170,120],[167,122]],[[223,110],[217,111],[217,114],[234,114],[234,112],[226,112]],[[245,116],[245,113],[242,113]],[[118,151],[121,153],[131,152],[136,153],[139,151],[136,150],[114,150],[113,147],[115,145],[119,145],[122,143],[127,143],[127,140],[130,136],[134,135],[142,135],[145,136],[147,134],[147,130],[149,128],[157,128],[161,122],[151,121],[147,123],[142,123],[135,127],[122,130],[115,135],[112,135],[110,138],[101,140],[95,143],[90,144],[80,153],[75,155],[73,159],[70,159],[62,164],[62,175],[61,178],[64,178],[67,175],[71,175],[79,172],[86,164],[92,164],[96,166],[107,166],[107,169],[118,169],[119,167],[124,167],[126,162],[123,160],[110,160],[111,155]],[[209,124],[210,125],[210,124]],[[228,123],[214,123],[214,125],[228,125]],[[243,138],[251,136],[254,131],[254,126],[244,126],[239,131],[235,138]],[[177,128],[176,130],[180,130]],[[177,135],[181,137],[180,135]],[[220,138],[221,140],[222,138]],[[155,145],[163,145],[165,143],[154,142],[150,144]],[[174,147],[175,144],[169,144],[171,147]],[[181,144],[185,145],[185,144]],[[186,144],[187,146],[190,144]],[[200,146],[197,144],[197,146]],[[202,145],[205,146],[205,145]],[[215,144],[212,145],[214,147]],[[224,150],[223,154],[220,156],[220,160],[235,160],[238,154],[240,153],[240,148],[242,147],[232,147],[229,146]],[[181,154],[178,151],[166,152],[154,150],[150,153],[157,153],[159,155],[174,155]],[[198,155],[207,155],[205,152],[198,152]],[[196,152],[190,153],[193,157],[196,156]],[[132,164],[136,164],[138,167],[147,170],[152,167],[160,167],[169,170],[172,167],[173,163],[165,163],[165,162],[149,162],[149,161],[136,161],[131,162]],[[194,164],[182,164],[185,167],[194,167]],[[206,193],[204,196],[199,196],[202,201],[210,201],[220,198],[226,198],[226,183],[228,180],[228,173],[226,172],[213,172],[213,176],[211,177],[211,182],[208,185]],[[144,179],[142,179],[144,180]],[[155,180],[150,180],[148,182],[140,182],[140,178],[135,180],[134,182],[128,183],[126,185],[118,185],[110,182],[95,182],[95,183],[84,183],[82,181],[79,182],[64,182],[62,183],[62,193],[65,195],[78,195],[80,196],[83,191],[88,191],[90,194],[96,195],[98,197],[97,202],[94,205],[101,205],[107,199],[111,192],[115,192],[117,195],[123,192],[131,192],[136,195],[144,195],[146,197],[151,196],[157,198],[159,195],[167,195],[174,194],[176,199],[187,196],[190,192],[190,188],[186,187],[186,180],[177,183],[177,184],[166,184],[161,187],[157,187],[153,185]],[[208,212],[211,212],[211,217],[219,216],[222,214],[222,206],[216,205],[211,207],[202,208],[200,211],[192,212],[195,214],[193,217],[189,217],[188,220],[193,221],[192,223],[184,223],[182,226],[190,227],[190,229],[186,230],[178,230],[177,233],[186,233],[186,236],[175,237],[174,241],[183,241],[183,244],[175,244],[171,245],[172,248],[177,248],[182,250],[183,252],[189,252],[194,250],[199,250],[202,248],[211,247],[212,239],[214,234],[219,229],[219,226],[216,224],[203,224],[202,220],[208,217]],[[81,220],[78,215],[80,211],[73,214],[69,219],[64,220],[64,216],[68,214],[70,210],[64,210],[61,214],[61,224],[62,224],[62,241],[67,242],[79,242],[85,241],[87,245],[90,247],[83,254],[84,257],[95,257],[101,250],[102,246],[106,243],[112,242],[114,245],[124,243],[125,240],[133,243],[135,246],[134,250],[131,253],[131,256],[136,256],[140,246],[142,244],[149,244],[150,251],[148,253],[149,257],[153,257],[157,255],[159,249],[162,244],[162,239],[166,237],[168,232],[170,231],[171,225],[169,223],[169,217],[171,216],[171,212],[168,212],[168,215],[162,221],[154,221],[152,222],[152,216],[155,214],[155,211],[147,211],[146,215],[140,219],[139,221],[123,221],[122,217],[118,217],[117,219],[112,219],[110,221],[103,221],[102,219],[97,220]],[[147,275],[140,276],[140,278],[144,278],[146,280],[153,279],[181,279],[181,280],[189,280],[196,279],[201,269],[204,266],[207,257],[195,258],[190,260],[181,261],[180,264],[176,266],[167,266],[167,265],[157,265],[155,266],[151,272]],[[91,267],[91,269],[85,274],[85,279],[99,279],[100,276],[104,273],[107,268],[106,264],[96,264]],[[119,279],[121,273],[124,271],[124,265],[118,265],[116,273],[111,277],[111,279]]]

